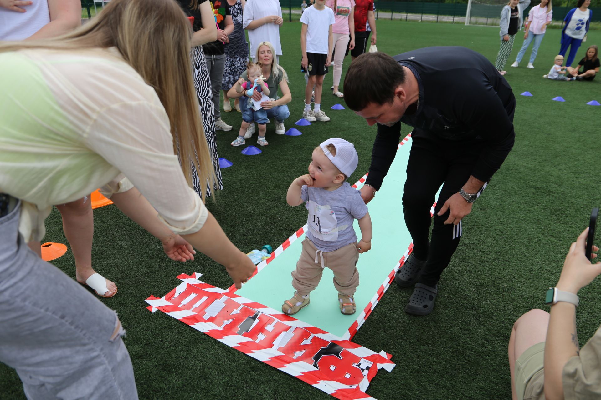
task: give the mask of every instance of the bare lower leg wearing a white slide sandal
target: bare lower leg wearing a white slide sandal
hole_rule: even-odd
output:
[[[92,239],[94,237],[94,213],[92,212],[92,202],[90,196],[87,199],[79,199],[71,203],[56,206],[63,216],[63,231],[73,257],[75,257],[75,279],[78,282],[85,281],[94,275],[96,271],[92,269]],[[114,282],[106,279],[106,288],[108,291],[104,296],[112,296],[117,290]]]

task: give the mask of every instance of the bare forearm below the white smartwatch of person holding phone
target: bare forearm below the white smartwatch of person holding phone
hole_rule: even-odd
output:
[[[566,290],[566,288],[560,288],[560,290]],[[576,306],[567,302],[558,302],[552,305],[545,342],[546,399],[564,398],[563,368],[570,358],[578,356],[579,349],[578,334],[576,333]]]

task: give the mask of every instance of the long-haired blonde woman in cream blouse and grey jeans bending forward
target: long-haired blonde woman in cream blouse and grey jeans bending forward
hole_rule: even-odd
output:
[[[113,0],[63,37],[0,44],[0,362],[28,398],[137,398],[115,312],[26,245],[43,237],[53,204],[104,187],[145,228],[168,227],[223,264],[236,286],[254,272],[190,187],[186,160],[201,182],[215,179],[191,35],[174,1]]]

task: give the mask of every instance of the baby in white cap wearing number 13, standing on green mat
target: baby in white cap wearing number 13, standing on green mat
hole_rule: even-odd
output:
[[[294,296],[282,305],[285,314],[293,315],[309,305],[309,294],[322,278],[325,267],[334,272],[338,305],[345,315],[356,310],[355,294],[359,285],[359,253],[371,248],[371,219],[358,190],[346,179],[359,161],[355,146],[344,139],[328,139],[314,149],[309,173],[294,179],[286,201],[290,206],[305,203],[309,211],[307,239],[302,242],[301,258],[292,272]],[[359,220],[361,240],[353,228]]]

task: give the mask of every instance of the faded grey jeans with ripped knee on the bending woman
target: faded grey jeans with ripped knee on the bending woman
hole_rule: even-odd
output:
[[[19,210],[0,218],[0,362],[28,399],[137,399],[117,314],[28,248]]]

